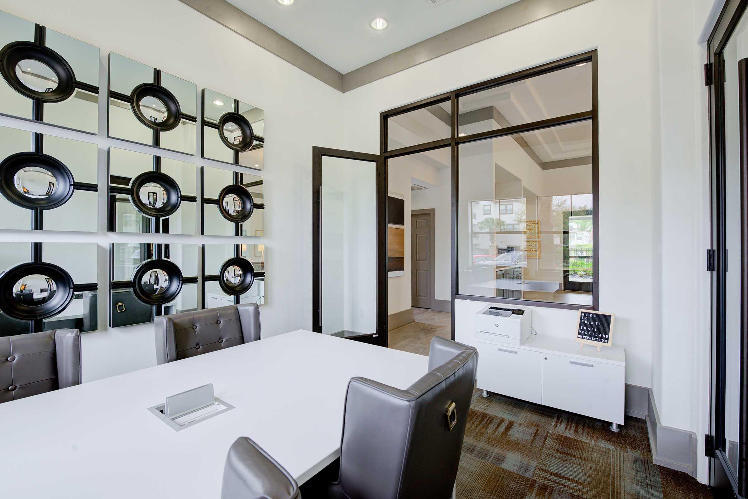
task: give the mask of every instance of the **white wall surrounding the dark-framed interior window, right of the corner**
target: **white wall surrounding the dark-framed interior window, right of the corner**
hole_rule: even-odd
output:
[[[708,402],[708,160],[696,34],[707,3],[596,0],[343,96],[343,143],[375,153],[380,111],[598,49],[599,307],[616,313],[626,382],[654,388],[663,423],[697,435]],[[472,308],[457,307],[456,334]],[[575,318],[533,308],[539,334],[572,337]]]

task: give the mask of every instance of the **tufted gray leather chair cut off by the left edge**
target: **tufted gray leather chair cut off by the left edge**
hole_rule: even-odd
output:
[[[0,337],[0,403],[80,384],[77,329]]]

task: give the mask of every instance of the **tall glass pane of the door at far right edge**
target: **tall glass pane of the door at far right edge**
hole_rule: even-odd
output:
[[[744,37],[748,32],[748,15],[744,15],[727,43],[725,58],[725,241],[729,254],[725,296],[725,442],[724,450],[732,471],[738,473],[740,442],[741,388],[741,136],[738,61],[748,57]],[[745,414],[744,416],[745,417]]]

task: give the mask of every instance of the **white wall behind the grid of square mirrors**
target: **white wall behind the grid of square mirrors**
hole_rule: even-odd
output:
[[[310,328],[311,215],[304,214],[310,212],[311,206],[311,147],[340,147],[340,93],[176,0],[132,0],[127,2],[126,9],[114,1],[78,0],[71,6],[55,0],[0,0],[0,10],[99,46],[102,96],[106,91],[108,52],[117,52],[194,82],[198,93],[201,88],[211,88],[265,109],[267,164],[266,170],[261,172],[266,181],[268,203],[265,233],[261,239],[241,241],[264,243],[272,254],[266,269],[269,295],[261,309],[263,335]],[[144,12],[150,18],[160,19],[158,30],[148,29],[143,24]],[[236,239],[222,236],[141,236],[106,232],[107,147],[148,153],[153,153],[154,149],[106,138],[104,101],[100,99],[99,102],[99,134],[96,136],[0,117],[0,126],[43,131],[95,142],[99,146],[98,231],[41,232],[33,236],[43,242],[96,242],[99,245],[99,296],[102,297],[99,325],[102,329],[82,337],[85,382],[156,364],[153,325],[105,327],[110,242],[236,243]],[[201,160],[199,153],[198,156],[159,154],[198,166],[226,168]],[[28,242],[29,239],[28,232],[0,231],[0,241]],[[292,307],[289,307],[289,293],[292,293]]]

